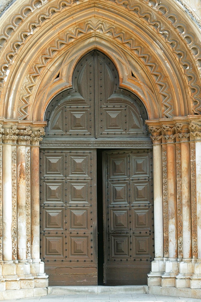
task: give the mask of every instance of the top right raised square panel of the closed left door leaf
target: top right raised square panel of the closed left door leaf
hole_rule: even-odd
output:
[[[70,169],[70,176],[85,176],[89,177],[88,174],[88,155],[69,155],[69,169]]]

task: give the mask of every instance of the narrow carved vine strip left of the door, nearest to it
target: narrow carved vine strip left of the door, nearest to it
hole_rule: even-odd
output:
[[[27,147],[26,152],[26,237],[27,237],[27,250],[26,257],[31,259],[31,162],[30,162],[30,148]]]

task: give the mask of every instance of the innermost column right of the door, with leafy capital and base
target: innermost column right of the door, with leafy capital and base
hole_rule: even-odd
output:
[[[164,271],[163,248],[163,192],[162,192],[162,135],[161,127],[149,127],[153,142],[153,179],[154,179],[154,246],[155,258],[151,262],[151,272],[148,274],[148,285],[161,284],[161,272]]]

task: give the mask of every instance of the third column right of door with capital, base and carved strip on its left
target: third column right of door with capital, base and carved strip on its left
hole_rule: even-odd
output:
[[[176,118],[175,118],[176,119]],[[176,119],[178,120],[178,119]],[[176,123],[176,167],[177,167],[177,234],[179,274],[177,288],[189,288],[192,267],[191,236],[191,191],[190,191],[190,133],[189,123]]]

